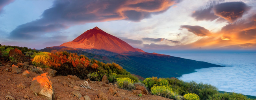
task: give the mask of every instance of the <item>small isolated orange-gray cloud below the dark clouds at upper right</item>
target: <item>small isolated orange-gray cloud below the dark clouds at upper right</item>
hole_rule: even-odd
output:
[[[192,32],[195,35],[200,36],[200,37],[211,36],[211,32],[201,26],[190,26],[190,25],[180,26],[180,30],[182,30],[183,28],[186,28],[189,32]]]

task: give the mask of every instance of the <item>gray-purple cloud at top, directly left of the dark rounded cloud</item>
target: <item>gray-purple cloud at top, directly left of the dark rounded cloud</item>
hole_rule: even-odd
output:
[[[206,7],[201,7],[200,9],[194,11],[192,13],[192,17],[194,17],[196,20],[215,20],[219,17],[214,15],[214,12],[212,11],[212,8],[214,5],[219,4],[223,1],[209,1]]]

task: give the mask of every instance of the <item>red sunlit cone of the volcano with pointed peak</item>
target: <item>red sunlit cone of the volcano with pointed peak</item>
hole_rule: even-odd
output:
[[[129,54],[129,52],[143,53],[144,51],[130,46],[121,39],[106,33],[95,27],[87,30],[71,42],[63,43],[60,46],[85,50],[106,50],[118,54]]]

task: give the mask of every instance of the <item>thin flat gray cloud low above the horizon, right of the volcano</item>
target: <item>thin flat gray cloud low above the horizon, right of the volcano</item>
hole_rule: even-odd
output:
[[[154,44],[154,43],[151,43],[151,44],[143,44],[144,48],[145,49],[171,49],[173,48],[174,46],[169,46],[167,44]]]

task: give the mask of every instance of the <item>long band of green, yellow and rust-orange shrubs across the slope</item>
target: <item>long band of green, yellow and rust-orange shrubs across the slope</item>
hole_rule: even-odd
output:
[[[2,61],[17,63],[14,57],[9,57],[9,51],[12,49],[19,49],[29,59],[33,58],[32,64],[36,67],[32,71],[37,74],[42,74],[43,68],[50,68],[57,70],[57,75],[76,75],[80,79],[90,78],[93,81],[100,81],[106,74],[109,82],[116,83],[119,88],[132,90],[135,88],[134,85],[138,84],[146,87],[154,95],[173,100],[252,100],[243,94],[219,93],[217,87],[195,81],[185,82],[176,78],[157,77],[140,81],[116,63],[103,63],[76,53],[37,52],[26,47],[2,46],[0,44]],[[138,94],[138,96],[142,96],[142,94]]]

